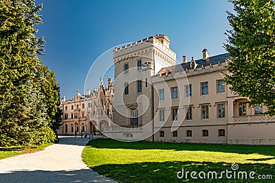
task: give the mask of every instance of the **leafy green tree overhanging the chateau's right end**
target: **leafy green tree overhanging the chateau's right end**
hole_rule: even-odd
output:
[[[273,0],[231,0],[225,49],[231,61],[224,74],[226,84],[250,106],[263,104],[275,114],[275,10]]]

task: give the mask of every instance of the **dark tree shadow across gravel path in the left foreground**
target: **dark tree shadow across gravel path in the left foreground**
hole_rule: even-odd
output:
[[[2,183],[30,182],[112,182],[90,169],[73,171],[14,171],[0,173]]]

